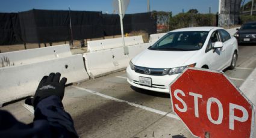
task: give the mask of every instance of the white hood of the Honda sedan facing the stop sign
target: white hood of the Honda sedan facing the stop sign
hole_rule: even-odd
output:
[[[192,58],[195,51],[162,51],[146,49],[133,60],[133,64],[148,68],[173,68],[181,67]],[[193,64],[193,63],[190,63]]]

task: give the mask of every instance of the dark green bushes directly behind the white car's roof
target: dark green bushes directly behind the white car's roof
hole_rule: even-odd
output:
[[[191,26],[216,26],[216,15],[180,13],[170,18],[170,30]]]

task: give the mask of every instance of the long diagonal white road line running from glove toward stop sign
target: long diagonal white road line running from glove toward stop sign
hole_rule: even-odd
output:
[[[111,96],[108,96],[108,95],[105,95],[105,94],[101,94],[99,92],[92,91],[90,89],[81,88],[81,87],[78,87],[78,86],[72,86],[72,87],[76,88],[76,89],[80,89],[80,90],[86,91],[86,92],[90,92],[91,94],[99,95],[99,96],[104,97],[104,98],[108,98],[110,100],[114,100],[114,101],[117,101],[117,102],[123,102],[123,103],[126,103],[126,104],[130,105],[130,106],[138,107],[140,109],[147,110],[149,112],[154,112],[154,113],[157,113],[157,114],[160,114],[160,115],[166,115],[169,118],[174,118],[174,119],[180,120],[180,118],[178,116],[176,116],[176,115],[174,115],[172,113],[167,113],[167,112],[163,112],[161,110],[152,109],[151,107],[142,106],[140,104],[130,103],[129,101],[120,100],[118,98],[114,98],[114,97],[111,97]]]

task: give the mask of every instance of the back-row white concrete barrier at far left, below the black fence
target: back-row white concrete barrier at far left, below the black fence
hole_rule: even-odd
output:
[[[70,56],[69,44],[0,53],[0,68]]]

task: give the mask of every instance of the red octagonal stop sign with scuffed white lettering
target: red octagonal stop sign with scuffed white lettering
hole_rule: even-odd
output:
[[[170,84],[170,97],[173,111],[194,136],[253,135],[254,104],[222,73],[187,68]]]

